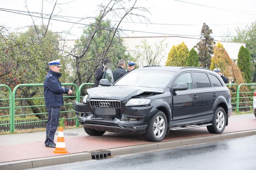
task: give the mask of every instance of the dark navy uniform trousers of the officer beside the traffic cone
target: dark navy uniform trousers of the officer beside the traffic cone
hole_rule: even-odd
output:
[[[59,124],[59,107],[47,108],[48,122],[46,125],[46,139],[44,144],[49,145],[54,141],[54,135]]]

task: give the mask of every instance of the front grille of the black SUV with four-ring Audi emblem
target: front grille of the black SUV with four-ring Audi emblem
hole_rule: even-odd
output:
[[[90,105],[92,108],[121,108],[121,102],[119,100],[91,99]]]

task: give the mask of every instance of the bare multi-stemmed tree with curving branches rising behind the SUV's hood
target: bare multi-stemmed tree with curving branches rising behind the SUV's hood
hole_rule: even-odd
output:
[[[76,78],[74,79],[74,83],[78,80],[78,85],[81,85],[84,82],[89,82],[93,77],[94,71],[96,68],[101,65],[101,62],[106,58],[106,55],[109,51],[115,51],[111,49],[111,45],[113,44],[113,40],[115,37],[119,37],[120,33],[120,24],[126,18],[132,20],[134,17],[139,18],[140,20],[147,20],[147,17],[143,13],[149,13],[145,7],[136,6],[137,0],[135,1],[126,1],[126,0],[109,0],[109,2],[104,5],[99,5],[99,17],[95,18],[96,22],[92,23],[93,31],[87,35],[85,42],[81,42],[79,45],[74,47],[68,55],[72,56],[75,61],[75,70],[76,70]],[[118,22],[114,25],[108,23],[108,27],[104,27],[102,25],[103,20],[108,20],[108,18],[115,18]],[[101,49],[101,53],[97,53],[95,50],[97,44],[92,46],[92,42],[94,42],[94,37],[96,33],[100,30],[104,30],[106,33],[106,40],[104,40],[104,46]],[[77,48],[83,44],[83,50],[80,53],[77,52]],[[81,47],[81,46],[80,46]],[[87,56],[89,49],[95,52],[96,58],[89,58]],[[118,54],[118,52],[116,52]],[[93,63],[93,65],[89,64]],[[87,65],[89,67],[87,67]],[[85,69],[81,69],[81,67],[85,67]],[[82,72],[83,71],[83,72]],[[89,74],[88,74],[89,73]],[[86,75],[86,80],[83,81],[83,77]]]

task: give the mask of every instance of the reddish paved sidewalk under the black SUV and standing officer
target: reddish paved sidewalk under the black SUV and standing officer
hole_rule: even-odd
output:
[[[256,118],[253,114],[232,115],[224,133],[253,129],[256,129]],[[213,134],[209,133],[206,127],[176,130],[170,131],[163,142],[209,135]],[[152,143],[147,142],[143,135],[136,133],[106,132],[101,137],[89,136],[83,128],[64,130],[64,137],[69,153]],[[57,156],[58,154],[51,153],[54,148],[45,147],[44,140],[45,132],[0,135],[0,162]],[[57,132],[55,140],[57,140]]]

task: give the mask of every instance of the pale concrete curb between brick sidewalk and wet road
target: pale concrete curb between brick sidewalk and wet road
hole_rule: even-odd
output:
[[[130,153],[145,152],[150,150],[167,149],[172,147],[179,147],[185,145],[192,145],[204,142],[214,142],[219,140],[245,137],[250,135],[256,135],[256,130],[246,130],[240,132],[224,133],[217,135],[209,135],[206,137],[186,138],[180,140],[172,140],[167,142],[155,142],[150,144],[135,145],[130,147],[121,147],[108,149],[111,152],[111,156],[125,155]],[[12,162],[0,163],[0,170],[17,170],[25,168],[35,168],[47,165],[55,165],[60,163],[71,163],[83,160],[91,160],[91,153],[82,152],[68,155],[59,155],[54,157],[35,158],[29,160],[19,160]]]

